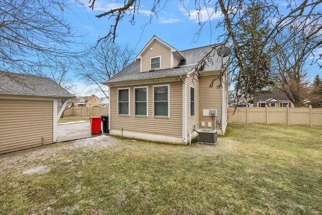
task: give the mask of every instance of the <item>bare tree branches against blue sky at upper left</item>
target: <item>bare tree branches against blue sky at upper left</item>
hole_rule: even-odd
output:
[[[77,36],[63,14],[64,0],[0,2],[0,69],[42,75],[60,59],[74,58]]]

